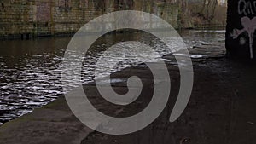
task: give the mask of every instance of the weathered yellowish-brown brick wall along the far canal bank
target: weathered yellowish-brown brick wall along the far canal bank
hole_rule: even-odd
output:
[[[147,0],[0,0],[0,37],[73,34],[86,22],[115,10],[143,10],[177,27],[178,7]]]

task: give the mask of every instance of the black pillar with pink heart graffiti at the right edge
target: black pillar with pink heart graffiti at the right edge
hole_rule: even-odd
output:
[[[227,56],[256,60],[256,1],[228,0]]]

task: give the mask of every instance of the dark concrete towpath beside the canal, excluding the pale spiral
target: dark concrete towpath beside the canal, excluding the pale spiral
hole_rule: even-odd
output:
[[[256,67],[224,58],[224,47],[203,45],[189,50],[194,57],[194,88],[188,107],[174,123],[168,118],[177,99],[179,70],[173,55],[165,55],[172,91],[165,110],[152,124],[129,135],[90,130],[74,117],[62,96],[0,127],[0,144],[253,144],[256,143]],[[178,53],[177,53],[178,55]],[[127,78],[137,75],[143,91],[125,107],[105,101],[96,85],[84,85],[90,102],[101,112],[127,117],[147,107],[154,79],[147,66],[125,68],[111,75],[113,89],[127,92]]]

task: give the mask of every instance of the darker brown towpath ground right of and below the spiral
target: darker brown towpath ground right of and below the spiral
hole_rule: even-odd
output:
[[[174,123],[168,122],[176,100],[177,75],[164,112],[147,128],[130,135],[95,132],[82,144],[253,144],[256,136],[256,67],[226,60],[204,60],[194,66],[195,83],[189,105]],[[138,100],[139,102],[139,100]],[[137,106],[143,107],[143,106]],[[125,108],[119,117],[133,113]]]

